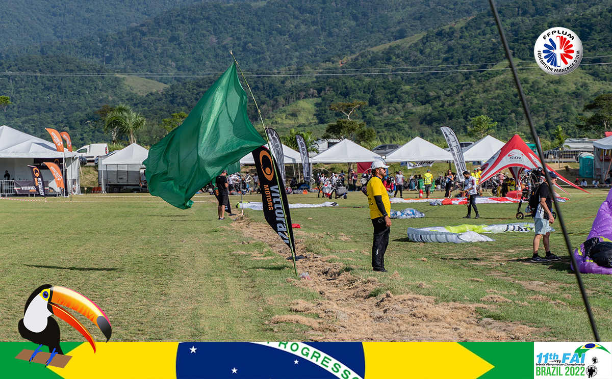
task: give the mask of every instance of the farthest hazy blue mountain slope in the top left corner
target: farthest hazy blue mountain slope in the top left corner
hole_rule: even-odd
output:
[[[200,2],[203,1],[4,0],[0,7],[0,49],[76,39],[96,32],[116,32],[138,25],[165,10]]]

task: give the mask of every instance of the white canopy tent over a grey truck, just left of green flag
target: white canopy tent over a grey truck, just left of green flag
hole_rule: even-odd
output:
[[[130,174],[140,177],[140,169],[144,168],[143,161],[147,159],[147,156],[149,156],[149,150],[136,142],[106,158],[100,156],[98,181],[102,184],[102,188],[106,191],[107,178],[117,177],[118,172],[124,172],[126,180]]]

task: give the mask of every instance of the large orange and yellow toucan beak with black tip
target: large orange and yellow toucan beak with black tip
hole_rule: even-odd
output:
[[[83,337],[85,337],[89,344],[91,344],[91,347],[94,348],[94,353],[95,342],[89,331],[79,322],[79,320],[76,320],[72,314],[65,311],[62,307],[58,307],[56,304],[69,307],[70,309],[73,309],[74,311],[79,312],[80,314],[89,318],[91,322],[98,326],[104,336],[106,336],[106,342],[110,340],[112,334],[111,323],[102,309],[100,309],[100,307],[93,301],[89,300],[80,293],[65,287],[53,286],[51,287],[50,292],[51,295],[49,297],[49,303],[51,304],[51,309],[53,309],[53,314],[69,323],[73,328],[78,330],[79,333],[83,334]]]

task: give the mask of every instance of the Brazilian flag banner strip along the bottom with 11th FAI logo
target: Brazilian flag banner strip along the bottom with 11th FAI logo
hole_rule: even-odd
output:
[[[15,359],[2,378],[553,379],[612,377],[611,342],[62,342],[63,368]],[[44,348],[43,351],[46,351]]]

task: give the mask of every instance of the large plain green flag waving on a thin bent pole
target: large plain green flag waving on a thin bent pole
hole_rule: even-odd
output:
[[[223,169],[266,141],[247,117],[247,94],[234,62],[198,101],[182,125],[151,147],[149,192],[187,209],[193,195]]]

